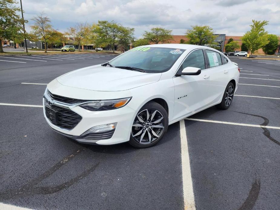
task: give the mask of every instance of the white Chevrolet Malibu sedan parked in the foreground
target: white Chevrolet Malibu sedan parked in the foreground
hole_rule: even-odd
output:
[[[44,117],[81,143],[145,148],[172,123],[214,105],[229,108],[238,81],[237,64],[213,48],[146,45],[51,81]]]

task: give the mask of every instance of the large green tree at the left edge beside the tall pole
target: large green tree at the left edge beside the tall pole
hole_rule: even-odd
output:
[[[2,40],[14,39],[21,30],[22,19],[17,14],[20,8],[14,0],[0,0],[0,52],[3,52]]]

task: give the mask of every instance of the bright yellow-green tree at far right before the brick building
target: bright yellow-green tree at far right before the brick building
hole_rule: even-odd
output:
[[[252,20],[252,22],[253,24],[250,25],[251,30],[247,31],[241,38],[251,54],[269,42],[267,38],[268,32],[264,28],[265,25],[268,25],[268,21]]]

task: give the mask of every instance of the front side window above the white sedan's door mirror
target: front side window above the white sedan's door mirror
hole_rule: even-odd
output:
[[[186,60],[183,62],[180,67],[180,71],[182,71],[186,67],[196,67],[201,70],[205,69],[204,55],[202,50],[193,51],[186,57]]]

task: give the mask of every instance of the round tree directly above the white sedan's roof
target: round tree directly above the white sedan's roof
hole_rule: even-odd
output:
[[[171,32],[172,30],[167,30],[165,28],[152,28],[151,31],[145,31],[143,37],[154,44],[169,43],[169,41],[173,40]]]

